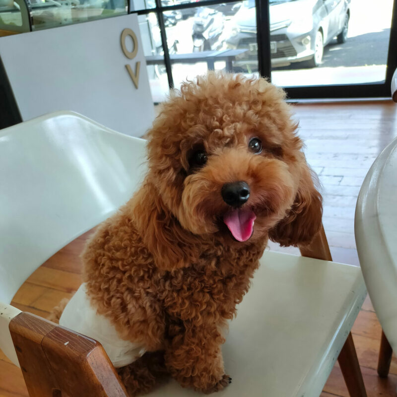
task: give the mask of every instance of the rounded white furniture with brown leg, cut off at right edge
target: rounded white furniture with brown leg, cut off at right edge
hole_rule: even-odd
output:
[[[368,293],[382,326],[378,373],[397,351],[397,139],[377,157],[358,195],[355,237]]]

